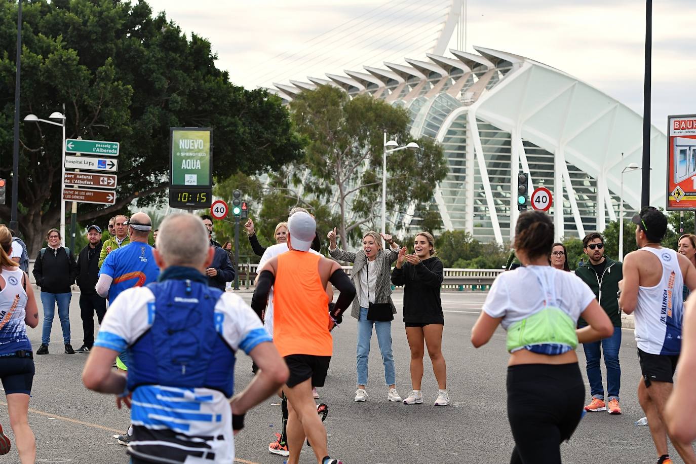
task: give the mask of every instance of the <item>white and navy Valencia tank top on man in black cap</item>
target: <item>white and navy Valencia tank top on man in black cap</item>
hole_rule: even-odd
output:
[[[677,252],[670,248],[648,251],[660,259],[662,279],[654,287],[638,287],[635,307],[635,342],[638,348],[655,355],[679,355],[681,352],[681,321],[683,277]]]

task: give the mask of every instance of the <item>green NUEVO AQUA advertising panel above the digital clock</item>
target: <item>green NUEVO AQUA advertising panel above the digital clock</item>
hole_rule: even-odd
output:
[[[212,185],[212,129],[171,128],[171,186]]]

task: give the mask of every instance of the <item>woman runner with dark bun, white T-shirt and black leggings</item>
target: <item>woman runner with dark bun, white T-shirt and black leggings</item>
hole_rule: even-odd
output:
[[[511,464],[561,462],[560,443],[575,431],[585,400],[576,346],[614,333],[590,287],[548,265],[552,245],[547,214],[519,216],[514,248],[522,266],[498,275],[471,330],[476,348],[489,342],[498,325],[507,330]],[[590,325],[576,329],[580,315]]]

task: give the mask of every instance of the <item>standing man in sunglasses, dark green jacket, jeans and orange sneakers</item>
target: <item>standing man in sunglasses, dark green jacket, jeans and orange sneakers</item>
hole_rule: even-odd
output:
[[[604,256],[604,238],[597,232],[587,234],[583,239],[583,252],[587,262],[578,266],[575,275],[581,278],[594,292],[595,298],[604,308],[614,325],[614,335],[599,342],[583,343],[587,359],[587,381],[590,382],[592,400],[585,406],[589,412],[608,411],[621,414],[619,406],[619,389],[621,387],[621,365],[619,365],[619,348],[621,347],[621,310],[619,310],[619,280],[623,278],[622,263]],[[580,318],[578,327],[587,326]],[[602,382],[601,358],[604,353],[604,365],[607,368],[608,401],[604,402],[604,385]]]

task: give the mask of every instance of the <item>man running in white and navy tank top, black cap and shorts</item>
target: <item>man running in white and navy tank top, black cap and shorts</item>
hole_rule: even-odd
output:
[[[681,353],[682,286],[696,290],[696,269],[686,256],[660,245],[667,232],[667,218],[661,211],[644,207],[631,221],[637,226],[635,243],[640,249],[626,255],[619,304],[626,314],[634,314],[643,375],[638,401],[648,419],[657,462],[672,464],[664,412]],[[690,443],[672,438],[672,445],[685,463],[696,463]]]

